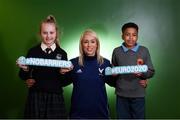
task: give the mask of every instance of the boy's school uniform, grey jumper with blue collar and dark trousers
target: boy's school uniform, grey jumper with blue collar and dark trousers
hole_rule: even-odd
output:
[[[139,81],[151,78],[154,75],[154,67],[149,51],[146,47],[136,44],[132,49],[125,47],[123,43],[113,51],[112,64],[114,66],[137,65],[138,60],[148,66],[148,71],[141,77],[134,74],[118,75],[116,81],[117,111],[119,118],[144,118],[145,88]],[[135,114],[129,114],[134,111]]]

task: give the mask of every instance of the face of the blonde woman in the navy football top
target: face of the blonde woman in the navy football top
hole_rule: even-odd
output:
[[[97,50],[96,38],[91,35],[85,35],[82,40],[82,48],[87,56],[94,56]]]

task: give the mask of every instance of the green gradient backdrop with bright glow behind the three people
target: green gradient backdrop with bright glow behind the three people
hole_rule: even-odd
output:
[[[156,75],[149,80],[147,118],[180,118],[179,0],[0,0],[0,118],[22,118],[27,88],[18,77],[16,59],[39,42],[42,19],[53,14],[62,31],[68,58],[78,55],[81,33],[94,29],[101,54],[111,59],[122,43],[121,26],[139,25],[139,43],[150,50]],[[72,86],[64,89],[67,109]],[[116,117],[114,89],[107,86],[110,112]],[[86,101],[84,101],[86,102]]]

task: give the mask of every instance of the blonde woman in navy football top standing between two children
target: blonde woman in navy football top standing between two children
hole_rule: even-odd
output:
[[[71,60],[73,69],[66,73],[73,82],[70,118],[108,119],[105,83],[113,85],[113,81],[104,71],[110,61],[100,55],[100,42],[93,30],[82,34],[79,51],[79,57]]]

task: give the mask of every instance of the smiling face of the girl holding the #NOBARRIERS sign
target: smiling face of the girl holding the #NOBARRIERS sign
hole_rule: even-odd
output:
[[[53,23],[43,23],[41,25],[42,42],[50,47],[56,40],[56,27]]]

